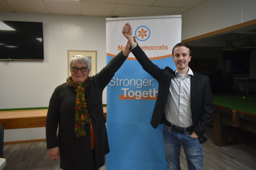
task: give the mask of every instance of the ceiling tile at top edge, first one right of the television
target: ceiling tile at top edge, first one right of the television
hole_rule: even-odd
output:
[[[51,14],[81,15],[81,1],[43,0]]]

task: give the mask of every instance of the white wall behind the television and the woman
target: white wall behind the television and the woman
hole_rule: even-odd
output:
[[[45,58],[9,61],[7,65],[0,60],[0,109],[48,107],[55,87],[66,82],[67,50],[96,50],[99,72],[106,65],[105,18],[0,12],[0,20],[43,22]],[[45,139],[45,128],[5,130],[5,142],[30,139]]]

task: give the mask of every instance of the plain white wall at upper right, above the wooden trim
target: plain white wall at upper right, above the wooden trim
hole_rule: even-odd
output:
[[[207,0],[182,14],[186,40],[256,19],[255,0]]]

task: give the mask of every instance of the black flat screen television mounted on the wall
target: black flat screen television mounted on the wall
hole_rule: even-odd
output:
[[[0,60],[43,60],[43,23],[0,21]]]

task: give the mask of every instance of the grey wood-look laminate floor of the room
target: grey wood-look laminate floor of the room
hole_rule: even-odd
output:
[[[245,131],[235,131],[240,140],[246,145],[229,137],[229,145],[219,147],[212,142],[213,128],[210,125],[205,133],[208,141],[202,145],[204,170],[255,170],[256,142],[255,134]],[[6,166],[3,170],[59,170],[59,161],[49,159],[46,142],[21,143],[4,145]],[[183,149],[181,150],[181,169],[187,170],[187,163]],[[105,170],[103,166],[100,170]],[[115,170],[115,169],[107,169]]]

